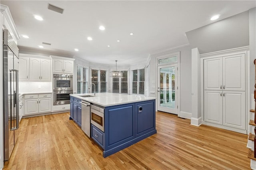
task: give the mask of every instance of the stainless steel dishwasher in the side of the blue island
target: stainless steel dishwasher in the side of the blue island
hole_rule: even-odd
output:
[[[82,104],[82,116],[81,116],[81,128],[84,133],[90,138],[91,137],[91,122],[90,122],[90,103],[86,101],[79,102]]]

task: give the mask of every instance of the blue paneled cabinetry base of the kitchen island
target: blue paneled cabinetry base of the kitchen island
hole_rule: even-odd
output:
[[[75,101],[74,97],[73,103]],[[73,104],[73,110],[70,108],[70,117],[72,114],[76,114],[74,108]],[[103,157],[114,154],[156,133],[155,100],[102,108],[104,108],[104,132],[91,124],[91,137],[103,148]]]

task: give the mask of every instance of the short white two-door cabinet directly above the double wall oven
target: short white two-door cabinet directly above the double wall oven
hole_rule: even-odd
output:
[[[70,73],[73,74],[74,61],[64,59],[53,59],[54,73]]]

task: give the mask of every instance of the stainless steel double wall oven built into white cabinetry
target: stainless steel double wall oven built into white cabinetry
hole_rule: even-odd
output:
[[[69,104],[70,94],[73,94],[73,75],[53,74],[53,105]]]

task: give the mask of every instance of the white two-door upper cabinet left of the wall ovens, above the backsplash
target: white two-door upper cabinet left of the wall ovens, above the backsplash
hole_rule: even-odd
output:
[[[30,58],[30,80],[50,81],[51,60]]]

